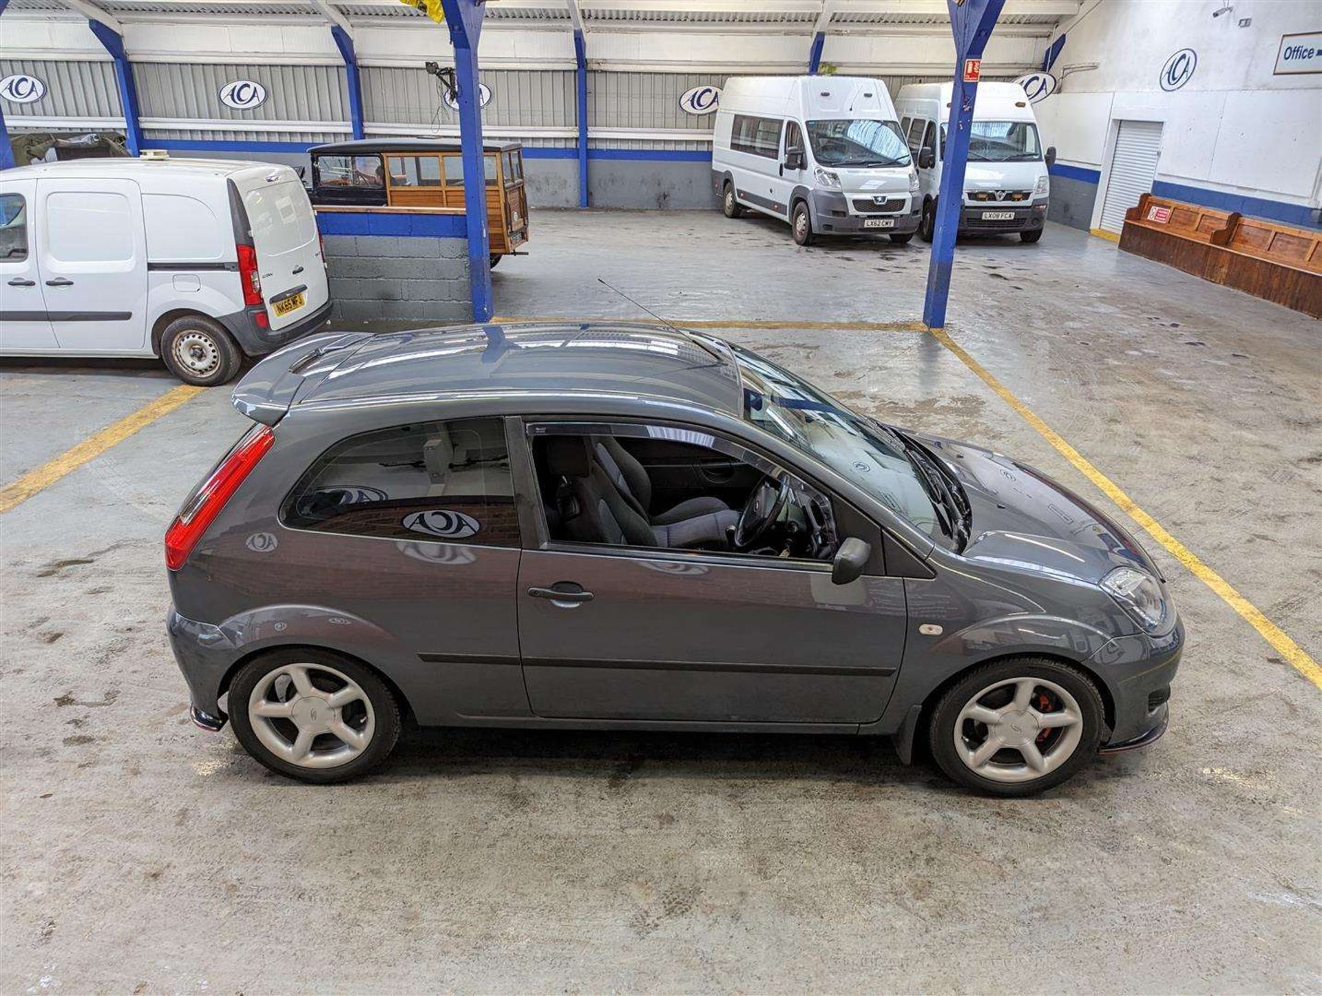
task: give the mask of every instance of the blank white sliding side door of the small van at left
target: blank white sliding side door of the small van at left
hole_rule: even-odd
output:
[[[38,180],[38,269],[61,351],[147,348],[147,237],[132,180]]]

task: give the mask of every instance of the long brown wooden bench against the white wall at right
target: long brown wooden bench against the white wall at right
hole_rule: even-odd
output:
[[[1322,317],[1322,231],[1145,193],[1120,247]]]

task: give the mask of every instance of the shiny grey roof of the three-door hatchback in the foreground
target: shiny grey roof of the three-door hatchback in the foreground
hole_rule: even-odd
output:
[[[646,395],[734,414],[742,406],[730,348],[661,325],[464,325],[365,336],[346,352],[297,405],[535,392]]]

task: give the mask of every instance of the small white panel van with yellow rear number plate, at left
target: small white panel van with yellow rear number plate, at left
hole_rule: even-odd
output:
[[[0,173],[0,356],[159,356],[214,385],[329,313],[288,167],[155,153]]]

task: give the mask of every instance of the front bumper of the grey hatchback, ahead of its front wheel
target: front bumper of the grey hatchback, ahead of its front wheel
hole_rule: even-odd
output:
[[[1117,636],[1088,659],[1107,683],[1113,716],[1103,754],[1146,747],[1170,721],[1170,683],[1185,651],[1185,624],[1165,636]]]

